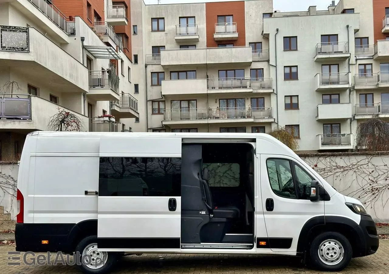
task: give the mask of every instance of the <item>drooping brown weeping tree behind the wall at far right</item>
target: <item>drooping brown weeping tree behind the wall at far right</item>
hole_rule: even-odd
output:
[[[357,150],[389,151],[389,124],[380,119],[369,119],[359,124],[356,143]]]

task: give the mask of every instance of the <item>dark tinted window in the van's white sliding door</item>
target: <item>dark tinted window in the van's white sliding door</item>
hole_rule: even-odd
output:
[[[99,196],[180,196],[181,158],[100,157]]]

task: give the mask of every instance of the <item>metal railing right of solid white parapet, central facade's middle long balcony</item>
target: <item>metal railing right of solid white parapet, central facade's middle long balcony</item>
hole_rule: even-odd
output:
[[[211,78],[208,89],[272,89],[272,78]]]

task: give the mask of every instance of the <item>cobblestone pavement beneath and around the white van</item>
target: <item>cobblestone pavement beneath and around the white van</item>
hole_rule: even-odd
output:
[[[8,251],[15,246],[0,246],[1,274],[81,274],[76,266],[10,266]],[[200,274],[256,273],[306,274],[321,273],[303,267],[296,257],[269,257],[259,255],[204,255],[204,254],[152,254],[123,257],[112,273],[115,274]],[[328,272],[322,272],[328,273]],[[381,240],[377,253],[352,259],[342,274],[388,274],[389,240]]]

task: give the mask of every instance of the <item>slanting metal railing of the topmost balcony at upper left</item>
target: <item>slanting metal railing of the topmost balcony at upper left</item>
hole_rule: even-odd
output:
[[[56,6],[53,5],[53,1],[49,0],[28,0],[35,7],[37,7],[44,15],[46,15],[47,18],[49,18],[51,21],[53,21],[54,24],[56,24],[58,27],[60,27],[61,30],[63,30],[68,35],[74,35],[70,30],[68,29],[67,21],[69,20],[68,17],[65,16]]]

